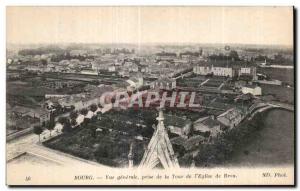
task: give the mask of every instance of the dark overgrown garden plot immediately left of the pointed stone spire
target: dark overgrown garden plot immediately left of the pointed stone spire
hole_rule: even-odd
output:
[[[131,142],[135,142],[134,162],[139,163],[144,153],[143,142],[134,140],[130,135],[116,132],[93,135],[89,126],[79,127],[71,133],[64,133],[45,142],[44,145],[104,165],[124,167],[128,165]]]

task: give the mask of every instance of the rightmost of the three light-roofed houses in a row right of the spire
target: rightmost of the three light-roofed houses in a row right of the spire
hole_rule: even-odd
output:
[[[220,114],[217,117],[217,120],[224,125],[225,127],[228,128],[233,128],[236,127],[242,120],[243,120],[243,113],[242,111],[236,109],[236,108],[231,108],[227,110],[226,112]]]

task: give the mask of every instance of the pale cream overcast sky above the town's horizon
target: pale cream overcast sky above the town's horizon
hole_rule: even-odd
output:
[[[8,7],[8,43],[293,44],[292,7]]]

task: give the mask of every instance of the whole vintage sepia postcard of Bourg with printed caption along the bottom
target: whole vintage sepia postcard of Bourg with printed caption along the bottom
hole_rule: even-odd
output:
[[[6,7],[7,185],[295,184],[293,7]]]

